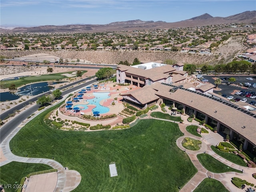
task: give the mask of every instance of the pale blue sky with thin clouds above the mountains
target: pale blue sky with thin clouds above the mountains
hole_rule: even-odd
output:
[[[0,25],[178,22],[205,13],[227,17],[253,10],[255,0],[0,0]]]

